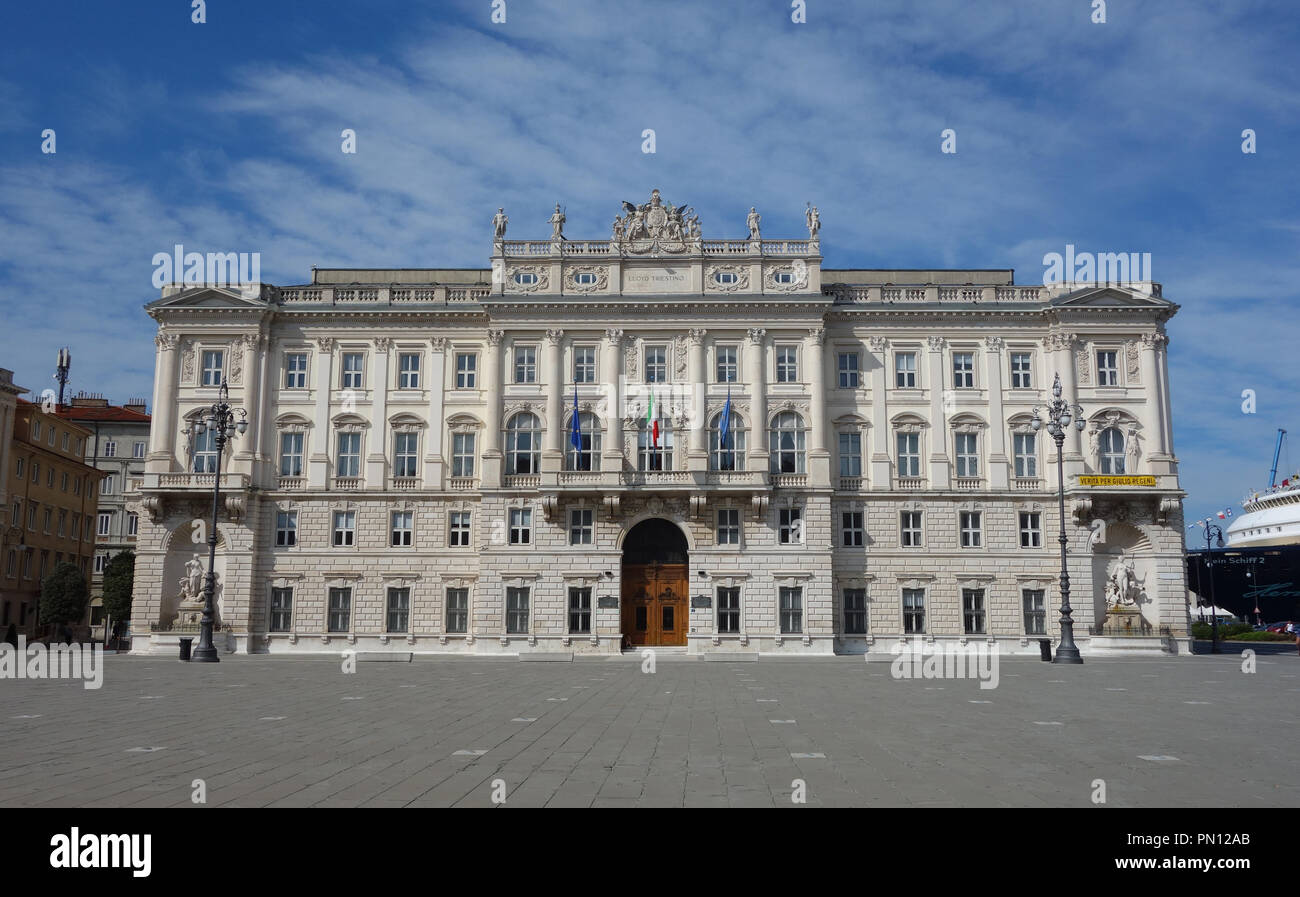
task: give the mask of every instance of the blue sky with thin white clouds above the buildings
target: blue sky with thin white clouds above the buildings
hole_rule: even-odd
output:
[[[1188,519],[1300,437],[1300,16],[1292,3],[190,0],[12,5],[0,58],[0,367],[152,391],[151,259],[482,266],[604,235],[658,186],[706,237],[798,235],[827,266],[1017,269],[1150,252]],[[57,153],[40,152],[53,129]],[[339,133],[358,135],[356,155]],[[641,131],[658,152],[641,152]],[[957,131],[956,155],[940,131]],[[1243,129],[1258,151],[1242,152]],[[1252,389],[1257,412],[1242,412]],[[1300,465],[1300,448],[1291,468]]]

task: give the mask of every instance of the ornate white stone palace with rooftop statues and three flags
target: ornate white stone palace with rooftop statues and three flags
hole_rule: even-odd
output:
[[[480,270],[165,287],[134,650],[194,628],[217,467],[194,424],[225,381],[248,421],[220,459],[231,651],[1037,651],[1060,526],[1031,420],[1056,376],[1087,420],[1063,452],[1080,649],[1186,650],[1160,286],[824,269],[806,220],[703,239],[655,191],[599,240],[558,207],[507,239],[498,212]]]

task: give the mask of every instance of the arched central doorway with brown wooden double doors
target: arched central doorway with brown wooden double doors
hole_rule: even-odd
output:
[[[623,540],[624,645],[685,645],[690,586],[685,534],[653,517]]]

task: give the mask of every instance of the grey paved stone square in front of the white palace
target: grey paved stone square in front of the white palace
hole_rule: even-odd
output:
[[[0,805],[1300,806],[1300,658],[1004,659],[996,689],[861,658],[105,658],[0,680]]]

